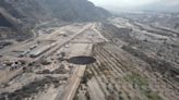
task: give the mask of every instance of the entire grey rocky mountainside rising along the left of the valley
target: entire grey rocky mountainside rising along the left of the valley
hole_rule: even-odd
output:
[[[5,27],[24,34],[35,24],[53,18],[86,22],[108,16],[106,10],[87,0],[0,0],[0,32]]]

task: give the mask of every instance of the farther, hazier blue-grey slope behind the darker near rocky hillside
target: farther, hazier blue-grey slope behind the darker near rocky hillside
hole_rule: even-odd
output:
[[[87,0],[36,0],[55,17],[63,21],[96,21],[110,14]]]

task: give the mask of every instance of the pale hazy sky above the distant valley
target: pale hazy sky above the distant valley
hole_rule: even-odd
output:
[[[106,9],[135,9],[144,8],[145,5],[160,7],[176,7],[179,4],[179,0],[88,0],[96,5],[104,7]],[[160,8],[162,9],[162,8]]]

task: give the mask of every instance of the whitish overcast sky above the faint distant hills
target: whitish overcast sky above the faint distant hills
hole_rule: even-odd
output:
[[[179,10],[179,0],[90,0],[96,5],[104,7],[110,11],[169,11]]]

